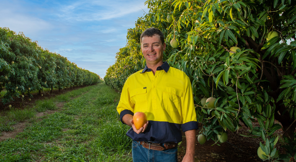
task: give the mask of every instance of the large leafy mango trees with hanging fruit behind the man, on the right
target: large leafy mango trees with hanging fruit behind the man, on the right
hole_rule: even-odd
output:
[[[219,144],[221,132],[236,132],[242,122],[250,129],[242,136],[263,139],[258,145],[260,158],[295,161],[295,1],[150,0],[146,4],[149,12],[128,29],[128,43],[108,68],[106,84],[120,91],[129,75],[144,68],[140,35],[147,27],[156,27],[165,35],[164,60],[192,82],[198,122],[207,140]],[[170,46],[172,40],[177,43]],[[210,97],[215,98],[213,106],[205,106]],[[254,127],[252,122],[257,121],[260,126]],[[275,134],[280,128],[284,133]],[[280,153],[277,144],[285,151]]]

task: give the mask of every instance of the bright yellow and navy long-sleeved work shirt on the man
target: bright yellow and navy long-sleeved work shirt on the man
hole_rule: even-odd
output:
[[[133,128],[126,135],[135,141],[180,142],[183,132],[198,128],[190,80],[167,62],[155,75],[147,66],[126,80],[117,106],[120,120],[125,114],[144,112],[149,124],[144,133]],[[124,122],[123,122],[124,123]]]

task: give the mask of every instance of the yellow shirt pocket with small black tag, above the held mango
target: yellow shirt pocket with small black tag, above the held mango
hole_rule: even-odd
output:
[[[132,89],[130,95],[131,101],[135,104],[134,112],[147,110],[147,89]]]

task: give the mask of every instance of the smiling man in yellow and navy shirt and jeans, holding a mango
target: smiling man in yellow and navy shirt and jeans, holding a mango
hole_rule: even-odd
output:
[[[120,120],[132,128],[133,161],[177,161],[177,145],[186,135],[183,161],[194,161],[197,127],[191,83],[183,71],[163,62],[163,33],[148,28],[141,34],[141,50],[146,67],[126,80],[117,111]],[[144,112],[147,122],[137,130],[133,114]]]

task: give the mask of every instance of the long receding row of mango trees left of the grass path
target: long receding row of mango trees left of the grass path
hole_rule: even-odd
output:
[[[0,87],[7,93],[4,104],[25,92],[40,91],[43,88],[63,89],[65,87],[91,85],[102,82],[97,74],[78,68],[67,58],[44,50],[36,42],[18,35],[8,28],[0,27]]]

